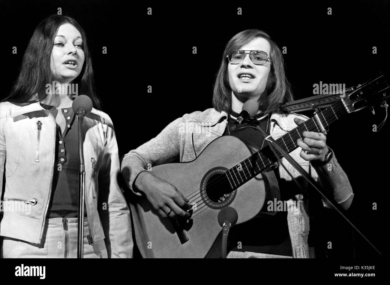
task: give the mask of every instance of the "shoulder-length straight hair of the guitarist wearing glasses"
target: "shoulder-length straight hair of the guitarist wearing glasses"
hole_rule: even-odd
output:
[[[271,46],[269,56],[271,58],[271,71],[267,80],[267,109],[264,113],[275,112],[280,108],[282,103],[293,101],[290,83],[287,81],[284,73],[282,52],[278,48],[277,44],[271,40],[268,34],[261,30],[250,29],[234,35],[234,37],[232,37],[226,44],[225,51],[222,55],[220,69],[214,84],[213,107],[218,112],[225,111],[229,113],[232,104],[232,89],[229,84],[226,55],[228,55],[232,50],[239,50],[241,47],[245,46],[257,37],[266,39]]]

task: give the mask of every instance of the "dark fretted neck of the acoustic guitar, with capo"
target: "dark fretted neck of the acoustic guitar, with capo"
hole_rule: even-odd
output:
[[[339,100],[327,109],[318,113],[318,117],[325,128],[328,128],[333,122],[336,122],[349,112],[344,99],[347,100],[347,97]],[[278,138],[276,142],[284,148],[285,151],[292,152],[294,149],[298,148],[298,145],[296,144],[298,138],[303,140],[302,133],[304,131],[321,133],[321,129],[316,118],[313,117],[308,119],[300,126]],[[275,152],[278,154],[279,158],[283,157],[278,150],[275,150]],[[277,160],[278,159],[275,157],[271,149],[269,149],[269,146],[266,146],[249,158],[241,161],[238,165],[230,168],[225,174],[230,182],[232,190],[237,189],[239,186],[261,173]]]

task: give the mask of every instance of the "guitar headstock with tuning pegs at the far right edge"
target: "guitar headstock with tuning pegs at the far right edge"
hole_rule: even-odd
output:
[[[369,80],[363,85],[358,85],[357,89],[341,97],[348,113],[362,110],[366,107],[371,108],[380,104],[390,97],[389,83],[387,76],[380,74],[374,80]]]

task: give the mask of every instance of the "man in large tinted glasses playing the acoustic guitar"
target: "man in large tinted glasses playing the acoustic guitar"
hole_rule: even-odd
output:
[[[161,218],[190,217],[189,197],[184,197],[175,185],[156,177],[147,169],[175,159],[192,161],[210,142],[222,135],[238,136],[256,149],[266,146],[264,137],[254,129],[230,131],[243,104],[249,99],[259,102],[259,112],[254,120],[275,139],[308,119],[280,111],[282,103],[293,99],[285,79],[282,53],[266,33],[254,29],[234,35],[227,43],[215,82],[214,108],[185,114],[171,122],[155,138],[124,156],[121,172],[128,187],[137,195],[145,195]],[[195,131],[200,129],[201,132]],[[322,133],[308,131],[302,135],[303,140],[296,142],[299,147],[290,155],[324,188],[332,189],[335,200],[348,209],[353,198],[351,185],[335,156],[332,156],[332,150],[327,147],[326,137]],[[294,177],[300,176],[285,158],[282,163]],[[332,165],[331,171],[327,170],[328,164]],[[236,225],[229,234],[234,246],[230,248],[228,257],[308,257],[307,191],[302,193],[300,189],[294,189],[294,183],[291,183],[291,177],[282,165],[268,168],[262,175],[267,177],[264,179],[266,189],[275,189],[275,193],[280,193],[280,200],[289,201],[289,205],[298,204],[299,211],[273,212],[272,215],[258,216]],[[307,181],[302,181],[301,186],[306,189]],[[293,200],[300,202],[291,203]],[[269,202],[274,201],[266,200],[263,211],[268,211],[264,208]],[[141,253],[149,257],[150,251],[144,250],[146,241],[142,241],[143,235],[140,234],[142,224],[137,225],[136,221],[137,218],[134,219],[135,234],[137,241],[140,240],[137,245]],[[153,244],[153,237],[148,238]],[[154,248],[157,247],[161,248],[154,243]],[[208,256],[218,256],[219,248],[216,253],[209,252]]]

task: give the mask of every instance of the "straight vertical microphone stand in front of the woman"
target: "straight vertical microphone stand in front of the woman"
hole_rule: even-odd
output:
[[[79,108],[77,112],[78,129],[78,153],[80,157],[79,179],[78,179],[78,223],[77,223],[77,258],[83,258],[84,252],[84,204],[85,204],[85,165],[83,148],[83,121],[85,108]]]

